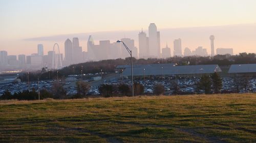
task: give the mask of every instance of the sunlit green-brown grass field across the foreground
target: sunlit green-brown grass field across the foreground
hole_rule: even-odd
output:
[[[0,142],[256,142],[256,95],[0,101]]]

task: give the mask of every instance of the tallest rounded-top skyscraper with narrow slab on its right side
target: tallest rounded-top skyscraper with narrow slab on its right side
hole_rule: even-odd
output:
[[[149,55],[151,57],[160,58],[160,33],[157,32],[157,26],[155,23],[151,23],[148,27],[148,43]]]

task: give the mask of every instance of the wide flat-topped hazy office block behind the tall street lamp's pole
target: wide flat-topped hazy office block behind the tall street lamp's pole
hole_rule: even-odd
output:
[[[122,38],[121,41],[124,42],[124,44],[132,50],[132,55],[134,58],[138,58],[138,49],[134,46],[134,40],[130,38]],[[129,52],[127,52],[126,48],[123,44],[121,44],[121,52],[122,52],[122,58],[130,57],[131,55]]]

